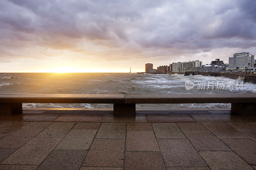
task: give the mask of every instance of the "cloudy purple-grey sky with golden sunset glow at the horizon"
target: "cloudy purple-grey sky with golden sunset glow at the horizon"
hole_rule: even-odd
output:
[[[0,72],[132,72],[256,55],[255,0],[0,0]]]

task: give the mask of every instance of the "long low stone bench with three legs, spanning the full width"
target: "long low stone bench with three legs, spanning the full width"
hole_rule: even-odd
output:
[[[234,113],[256,114],[256,94],[0,94],[0,114],[22,113],[22,103],[111,103],[114,115],[135,115],[140,103],[231,103]]]

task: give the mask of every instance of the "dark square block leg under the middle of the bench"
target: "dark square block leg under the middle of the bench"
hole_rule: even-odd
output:
[[[136,104],[114,104],[114,116],[135,116]]]

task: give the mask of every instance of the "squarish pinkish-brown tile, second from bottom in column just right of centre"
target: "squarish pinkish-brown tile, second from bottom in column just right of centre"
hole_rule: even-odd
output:
[[[154,132],[127,130],[126,151],[159,151]]]

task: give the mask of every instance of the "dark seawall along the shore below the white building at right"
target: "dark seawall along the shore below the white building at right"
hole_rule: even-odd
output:
[[[184,73],[184,76],[192,75],[203,75],[203,76],[215,76],[215,77],[225,77],[225,78],[232,78],[232,79],[241,79],[244,82],[251,82],[256,84],[256,75],[252,74],[233,74],[233,73],[213,73],[213,72],[193,72],[187,71]]]

